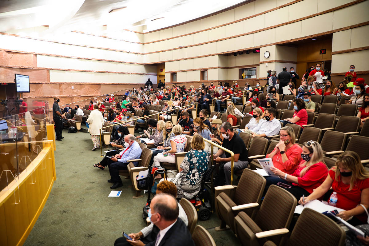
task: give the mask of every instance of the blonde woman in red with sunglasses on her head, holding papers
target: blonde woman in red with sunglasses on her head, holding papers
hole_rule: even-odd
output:
[[[297,200],[300,200],[303,195],[307,197],[323,184],[328,176],[328,167],[323,162],[323,156],[322,148],[318,142],[304,142],[301,153],[302,160],[296,170],[287,174],[276,167],[271,167],[270,170],[279,177],[266,176],[264,192],[266,193],[272,184],[284,183],[290,188],[281,187],[289,191]]]

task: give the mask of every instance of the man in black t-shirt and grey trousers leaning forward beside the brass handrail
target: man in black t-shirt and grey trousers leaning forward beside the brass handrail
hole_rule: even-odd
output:
[[[220,127],[223,136],[222,146],[234,153],[233,171],[245,169],[248,162],[248,151],[245,143],[238,134],[235,134],[230,122],[224,122]],[[231,154],[222,149],[218,149],[214,154],[214,162],[220,163],[218,175],[215,177],[214,186],[222,186],[231,184]]]

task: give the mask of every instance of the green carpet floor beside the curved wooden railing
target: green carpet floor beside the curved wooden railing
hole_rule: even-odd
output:
[[[142,208],[147,195],[133,199],[135,192],[124,179],[120,197],[108,197],[109,171],[93,167],[101,160],[100,150],[92,151],[90,135],[68,134],[56,141],[56,181],[34,228],[24,245],[114,245],[115,239],[144,228]],[[215,214],[208,221],[198,221],[219,246],[240,245],[232,231],[215,232],[219,225]]]

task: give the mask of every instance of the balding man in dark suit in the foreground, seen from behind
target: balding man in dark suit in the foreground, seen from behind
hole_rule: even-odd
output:
[[[160,231],[156,239],[147,246],[186,245],[194,246],[191,233],[182,219],[178,218],[179,208],[176,199],[172,195],[157,194],[150,204],[149,217]],[[127,240],[132,245],[134,241]]]

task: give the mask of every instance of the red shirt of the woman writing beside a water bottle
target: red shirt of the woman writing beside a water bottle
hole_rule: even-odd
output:
[[[329,176],[333,180],[332,189],[337,192],[337,208],[345,210],[356,208],[361,203],[361,191],[369,187],[369,179],[356,180],[352,190],[349,190],[350,184],[342,183],[341,175],[338,176],[338,181],[335,180],[335,174],[335,170],[329,170]],[[356,215],[356,217],[366,222],[368,216],[364,212],[361,215]]]

